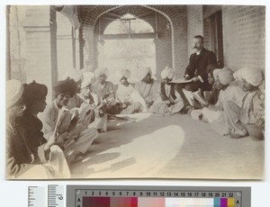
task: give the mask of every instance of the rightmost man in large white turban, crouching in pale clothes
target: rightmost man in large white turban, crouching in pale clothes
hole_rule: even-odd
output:
[[[261,70],[243,67],[234,74],[238,85],[245,92],[240,103],[226,100],[224,114],[226,127],[230,138],[237,139],[247,135],[263,139],[261,124],[264,121],[264,94],[259,86],[263,84],[264,76]]]

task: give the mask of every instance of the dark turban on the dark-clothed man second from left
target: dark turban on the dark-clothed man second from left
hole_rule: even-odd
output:
[[[23,101],[26,106],[30,106],[35,101],[41,101],[46,98],[48,88],[46,85],[38,84],[34,80],[31,84],[23,84]]]

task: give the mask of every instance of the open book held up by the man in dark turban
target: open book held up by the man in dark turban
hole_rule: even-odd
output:
[[[84,121],[89,113],[93,110],[91,104],[84,105],[82,108],[74,108],[72,110],[67,110],[62,108],[58,112],[58,121],[54,130],[56,137],[72,130],[76,130],[78,125]]]

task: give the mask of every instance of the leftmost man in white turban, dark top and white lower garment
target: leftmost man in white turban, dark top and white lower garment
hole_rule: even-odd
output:
[[[45,86],[45,85],[44,85]],[[44,109],[44,95],[46,86],[42,86],[43,94],[33,97],[31,108],[35,108],[34,114]],[[43,89],[45,91],[43,91]],[[28,90],[28,89],[27,89]],[[29,93],[29,91],[26,91]],[[9,80],[6,83],[6,177],[18,179],[48,179],[70,177],[69,168],[63,152],[55,145],[54,134],[48,141],[40,134],[40,128],[36,125],[40,122],[34,114],[24,123],[18,122],[23,114],[25,103],[23,102],[23,85],[18,80]],[[28,95],[27,95],[28,96]],[[42,99],[42,101],[40,100]],[[27,105],[29,102],[26,101]],[[35,106],[34,106],[35,105]],[[28,109],[30,110],[30,109]],[[27,114],[28,112],[25,112]],[[38,123],[38,124],[36,124]],[[30,126],[24,128],[26,124]],[[33,129],[31,129],[31,127]],[[31,130],[31,131],[29,131]],[[36,137],[34,137],[36,136]],[[34,140],[33,140],[34,139]],[[63,170],[59,170],[63,169]]]

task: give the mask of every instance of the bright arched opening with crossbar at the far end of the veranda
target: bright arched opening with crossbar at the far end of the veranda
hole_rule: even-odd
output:
[[[115,83],[115,70],[130,69],[130,82],[137,82],[137,69],[150,67],[156,76],[155,31],[132,14],[122,15],[99,34],[98,66],[108,67],[109,80]]]

